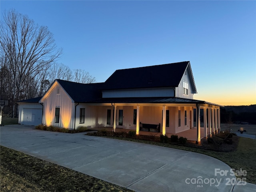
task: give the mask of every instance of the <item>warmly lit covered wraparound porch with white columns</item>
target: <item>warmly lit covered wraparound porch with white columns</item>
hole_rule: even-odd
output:
[[[104,127],[114,132],[134,130],[136,134],[186,137],[201,142],[220,130],[220,106],[184,98],[104,98],[98,105],[107,106]],[[112,109],[111,110],[111,106]],[[106,109],[106,108],[105,108]],[[104,113],[102,113],[104,115]],[[103,117],[102,117],[103,118]],[[141,124],[160,125],[147,132]]]

